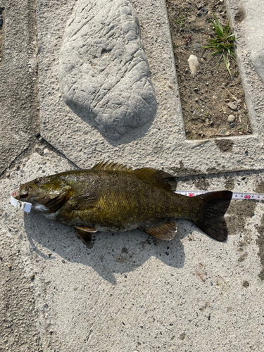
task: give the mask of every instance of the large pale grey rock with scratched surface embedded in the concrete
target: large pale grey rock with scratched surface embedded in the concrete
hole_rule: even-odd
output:
[[[77,1],[65,28],[58,81],[65,103],[104,137],[119,139],[153,120],[156,96],[130,1]]]

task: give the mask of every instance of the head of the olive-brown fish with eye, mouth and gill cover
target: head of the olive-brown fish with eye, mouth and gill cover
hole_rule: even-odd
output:
[[[32,209],[40,213],[54,213],[71,196],[71,187],[57,175],[38,177],[20,184],[15,199],[32,203]]]

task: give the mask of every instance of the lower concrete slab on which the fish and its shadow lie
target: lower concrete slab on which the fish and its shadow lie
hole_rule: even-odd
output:
[[[18,308],[0,310],[1,318],[17,331],[18,318],[26,325],[34,312],[36,325],[24,349],[6,328],[2,351],[263,351],[262,202],[232,201],[226,243],[180,220],[170,242],[140,231],[98,233],[88,249],[72,228],[9,203],[20,182],[72,168],[42,149],[0,182],[1,289]],[[263,184],[262,172],[178,180],[179,189],[208,191],[263,191]]]

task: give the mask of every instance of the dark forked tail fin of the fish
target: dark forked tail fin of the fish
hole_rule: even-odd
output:
[[[225,212],[232,199],[231,191],[216,191],[195,196],[199,201],[199,211],[194,218],[194,223],[213,239],[225,241],[227,239],[227,224]]]

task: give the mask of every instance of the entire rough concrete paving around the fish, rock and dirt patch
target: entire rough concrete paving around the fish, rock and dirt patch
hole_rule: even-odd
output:
[[[263,6],[254,1],[254,6]],[[19,6],[0,1],[5,8],[0,74],[6,84],[0,94],[6,131],[1,129],[5,142],[0,149],[5,171],[0,180],[0,351],[263,351],[262,201],[232,201],[225,243],[180,220],[179,234],[170,242],[140,231],[99,233],[92,248],[70,227],[26,215],[9,203],[10,192],[21,182],[87,168],[102,158],[163,168],[177,176],[178,189],[264,193],[263,83],[247,55],[244,32],[250,17],[234,20],[239,1],[230,0],[227,7],[241,35],[238,57],[253,137],[185,141],[176,76],[170,75],[175,70],[172,55],[164,51],[165,44],[170,47],[165,6],[163,1],[149,5],[138,0],[133,4],[156,84],[159,122],[118,144],[101,139],[96,131],[91,134],[65,110],[59,96],[61,33],[74,3],[37,0],[40,115],[48,144],[35,137],[37,76],[27,72],[37,62],[37,46],[32,44],[31,51],[25,46],[36,38],[32,27],[28,30],[34,1],[20,1]],[[262,33],[259,23],[256,30]],[[16,77],[13,84],[6,82],[9,74]]]

